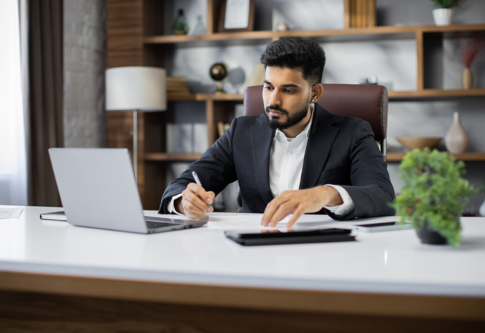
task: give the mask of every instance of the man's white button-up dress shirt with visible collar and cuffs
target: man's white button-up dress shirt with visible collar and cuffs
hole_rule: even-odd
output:
[[[287,137],[280,130],[275,131],[273,142],[270,151],[270,190],[273,197],[277,197],[283,191],[298,190],[300,187],[300,179],[303,169],[303,160],[305,158],[305,150],[307,149],[308,134],[310,132],[311,122],[313,121],[313,108],[311,105],[311,116],[305,129],[296,137]],[[343,204],[338,206],[324,206],[330,212],[336,215],[343,216],[354,211],[354,200],[350,197],[348,192],[339,185],[326,184],[325,186],[332,186],[335,188],[340,197],[342,197]],[[182,194],[173,196],[167,204],[169,212],[175,212],[174,201]]]

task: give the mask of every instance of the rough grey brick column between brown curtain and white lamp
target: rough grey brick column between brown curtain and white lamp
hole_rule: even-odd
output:
[[[105,147],[106,2],[64,0],[64,145]]]

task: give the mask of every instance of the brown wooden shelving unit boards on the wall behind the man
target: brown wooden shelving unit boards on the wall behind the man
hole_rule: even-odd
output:
[[[344,0],[348,8],[348,0]],[[163,1],[158,0],[108,0],[108,67],[151,65],[165,67],[166,50],[174,47],[219,45],[247,45],[269,43],[285,36],[301,36],[319,42],[372,41],[389,39],[414,39],[417,57],[417,89],[415,91],[389,91],[390,101],[446,100],[485,96],[485,89],[442,90],[428,84],[425,59],[428,57],[426,41],[484,33],[485,24],[436,26],[399,26],[348,28],[348,10],[341,30],[293,30],[285,32],[245,31],[216,32],[220,0],[207,0],[207,34],[202,36],[164,35]],[[170,75],[170,73],[168,73]],[[190,94],[169,95],[169,102],[201,101],[205,103],[208,140],[217,139],[217,121],[230,121],[227,107],[241,102],[242,94]],[[193,161],[200,154],[172,154],[165,151],[165,115],[139,113],[138,185],[145,209],[157,209],[165,189],[166,163]],[[110,112],[108,141],[110,147],[131,148],[131,115]],[[388,161],[400,161],[404,153],[388,153]],[[465,161],[484,161],[485,153],[457,155]]]

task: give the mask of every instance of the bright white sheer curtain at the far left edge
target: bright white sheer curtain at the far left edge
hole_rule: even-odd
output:
[[[0,204],[27,204],[17,0],[0,1]]]

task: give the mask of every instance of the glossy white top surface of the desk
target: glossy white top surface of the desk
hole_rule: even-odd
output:
[[[421,244],[412,229],[358,233],[356,242],[243,247],[211,227],[142,235],[39,218],[42,212],[56,210],[25,207],[18,219],[0,219],[0,271],[485,297],[485,218],[481,217],[462,218],[459,248]],[[214,213],[213,218],[231,219],[231,214]]]

